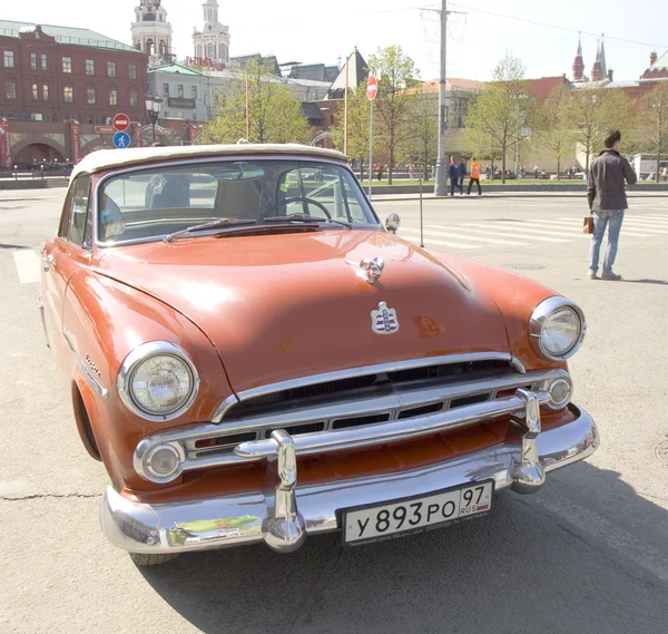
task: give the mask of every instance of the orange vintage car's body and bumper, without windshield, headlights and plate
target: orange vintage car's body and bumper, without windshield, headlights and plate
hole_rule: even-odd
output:
[[[267,431],[255,445],[239,437],[238,446],[206,453],[207,446],[215,448],[217,442],[212,429],[225,429],[228,420],[238,426],[246,400],[273,393],[274,388],[292,389],[295,381],[307,386],[310,378],[315,378],[316,384],[327,378],[335,382],[346,372],[360,375],[364,368],[370,368],[371,374],[377,368],[401,371],[403,367],[435,367],[436,361],[438,367],[448,365],[449,359],[469,371],[474,360],[487,359],[493,365],[485,368],[488,379],[495,371],[515,377],[508,390],[494,391],[493,397],[500,399],[512,398],[513,386],[522,384],[522,375],[547,372],[558,377],[568,371],[564,359],[541,354],[530,332],[537,306],[558,298],[557,293],[507,271],[428,252],[385,231],[380,223],[353,230],[330,225],[310,232],[249,232],[229,238],[207,233],[173,242],[115,246],[100,245],[96,240],[77,245],[68,240],[62,225],[68,222],[77,178],[90,182],[87,213],[92,227],[90,218],[99,213],[99,185],[110,176],[128,168],[196,164],[213,157],[223,160],[239,152],[259,159],[326,162],[348,170],[337,153],[295,146],[156,148],[134,154],[114,150],[108,158],[92,157],[79,167],[66,201],[60,235],[42,247],[40,306],[48,344],[70,384],[81,440],[91,456],[101,459],[111,480],[102,508],[107,535],[130,553],[143,554],[262,539],[278,549],[292,549],[306,533],[342,528],[342,508],[385,501],[393,478],[404,481],[405,476],[436,468],[450,472],[454,466],[465,465],[468,456],[484,452],[487,462],[483,459],[482,464],[491,469],[484,477],[493,479],[497,489],[513,486],[513,469],[521,466],[530,445],[524,440],[529,435],[519,410],[484,414],[451,428],[436,425],[432,431],[420,429],[426,425],[423,421],[431,422],[430,416],[418,412],[421,417],[415,419],[415,429],[406,433],[399,430],[383,442],[360,441],[361,429],[373,437],[383,427],[377,421],[364,427],[362,419],[356,427],[307,431],[311,445],[304,441],[303,447],[302,440],[293,442],[299,438],[296,435],[286,433],[285,440]],[[381,259],[384,264],[374,282],[356,265],[369,259]],[[393,332],[372,328],[373,311],[381,302],[394,311],[397,329]],[[387,313],[383,314],[386,318]],[[124,361],[147,342],[177,345],[196,368],[196,397],[186,411],[170,420],[139,416],[119,396]],[[468,360],[472,361],[465,365]],[[448,381],[443,383],[448,386]],[[430,383],[430,389],[438,384]],[[529,381],[525,387],[532,386]],[[371,388],[365,389],[366,396],[358,402],[380,398],[369,391]],[[346,391],[318,398],[317,403],[307,403],[317,411],[350,400]],[[549,456],[541,453],[534,460],[540,471],[593,451],[598,435],[586,412],[570,402],[551,409],[544,407],[544,398],[536,402],[540,404],[539,449],[540,438],[547,439],[548,432],[552,432],[550,438],[558,438],[561,429],[559,438],[568,437],[563,446],[557,441]],[[236,413],[228,419],[226,412],[230,410]],[[292,421],[286,414],[281,425],[281,408],[271,414],[278,421],[271,431]],[[433,416],[431,419],[435,420]],[[396,422],[396,417],[390,420]],[[200,437],[189,437],[189,428],[199,430]],[[342,437],[341,432],[353,431],[357,436],[348,446],[336,438],[337,432]],[[170,432],[177,436],[168,438]],[[181,442],[183,451],[193,451],[197,460],[206,458],[208,462],[186,467],[169,481],[150,481],[137,468],[138,447],[158,437],[169,442],[178,433],[185,433],[183,442],[174,441]],[[314,445],[318,435],[326,440],[322,450]],[[330,441],[333,445],[326,446]],[[267,443],[275,447],[267,450]],[[493,469],[499,464],[494,456],[501,453],[509,456],[503,477],[498,475],[503,468]],[[477,481],[470,471],[459,468],[458,474],[466,475],[455,480],[444,478],[443,488]],[[539,476],[536,488],[543,477]],[[382,494],[373,492],[370,484],[379,479],[385,485]],[[357,498],[354,484],[370,492]],[[425,482],[415,490],[397,487],[402,496],[396,497],[422,494],[433,486]],[[332,503],[330,491],[337,487],[341,499]],[[305,517],[299,510],[306,504],[302,498],[311,495],[311,504],[318,491],[320,501],[314,504],[320,510]],[[229,510],[239,504],[249,509],[240,514],[252,518],[247,529]],[[180,519],[175,519],[175,509],[183,510]],[[135,528],[128,528],[127,517],[132,518]],[[213,524],[199,526],[198,521]]]

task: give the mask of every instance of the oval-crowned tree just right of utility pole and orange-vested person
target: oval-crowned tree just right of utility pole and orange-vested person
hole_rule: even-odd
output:
[[[488,154],[500,155],[502,182],[505,183],[505,156],[521,138],[534,107],[530,86],[524,80],[524,66],[507,55],[485,84],[480,95],[469,106],[464,119],[469,145],[488,148]],[[480,152],[482,155],[483,153]]]

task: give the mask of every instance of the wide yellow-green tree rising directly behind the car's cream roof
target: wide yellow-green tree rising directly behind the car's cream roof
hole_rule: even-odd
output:
[[[246,129],[246,81],[248,130]],[[302,106],[269,72],[268,66],[250,61],[232,82],[229,94],[219,96],[214,118],[208,121],[200,143],[306,143],[311,137]]]

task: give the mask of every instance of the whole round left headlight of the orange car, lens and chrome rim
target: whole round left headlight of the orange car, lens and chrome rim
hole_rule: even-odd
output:
[[[199,380],[190,360],[175,344],[153,341],[136,348],[118,372],[118,393],[135,413],[170,420],[193,404]]]

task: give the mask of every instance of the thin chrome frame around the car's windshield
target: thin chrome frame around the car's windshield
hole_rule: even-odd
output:
[[[109,179],[109,178],[116,178],[117,176],[122,176],[125,174],[131,174],[134,172],[143,172],[146,169],[154,169],[154,168],[160,168],[160,167],[178,167],[180,165],[193,165],[193,164],[200,164],[200,163],[220,163],[220,162],[227,162],[227,160],[238,160],[238,159],[246,159],[248,160],[249,155],[248,154],[236,154],[236,155],[229,155],[229,156],[207,156],[207,157],[199,157],[199,158],[190,158],[190,159],[179,159],[179,160],[160,160],[159,163],[143,163],[141,165],[135,165],[131,167],[125,167],[122,169],[116,169],[109,174],[106,174],[105,176],[102,176],[100,179],[98,179],[98,182],[96,183],[95,186],[95,192],[92,194],[92,212],[94,212],[94,216],[92,216],[92,243],[97,248],[114,248],[117,246],[125,246],[125,245],[129,245],[129,244],[144,244],[147,242],[159,242],[161,241],[165,236],[167,236],[168,234],[163,234],[160,236],[154,236],[151,238],[138,238],[137,241],[127,241],[124,243],[114,243],[114,244],[106,244],[104,242],[99,242],[98,241],[98,209],[99,209],[99,193],[100,193],[100,187]],[[285,154],[267,154],[267,155],[258,155],[257,156],[258,159],[262,160],[297,160],[299,163],[328,163],[332,165],[337,165],[338,167],[343,167],[344,169],[347,169],[354,177],[355,182],[358,184],[357,177],[355,176],[355,173],[351,169],[350,165],[347,165],[347,163],[345,162],[341,162],[341,160],[336,160],[334,158],[326,158],[326,157],[322,157],[322,158],[316,158],[314,156],[304,156],[304,157],[295,157],[295,156],[288,156]],[[99,174],[96,173],[96,174]],[[71,186],[71,183],[70,183]],[[360,186],[360,185],[358,185]],[[360,191],[362,192],[362,194],[364,194],[364,188],[360,186]],[[375,209],[373,208],[373,205],[371,204],[371,202],[367,199],[367,204],[369,204],[369,208],[371,209],[371,213],[375,216],[376,218],[376,224],[371,224],[371,223],[365,223],[364,226],[365,227],[374,227],[374,228],[382,228],[383,223],[381,222],[381,220],[379,218],[379,215],[376,214]]]

